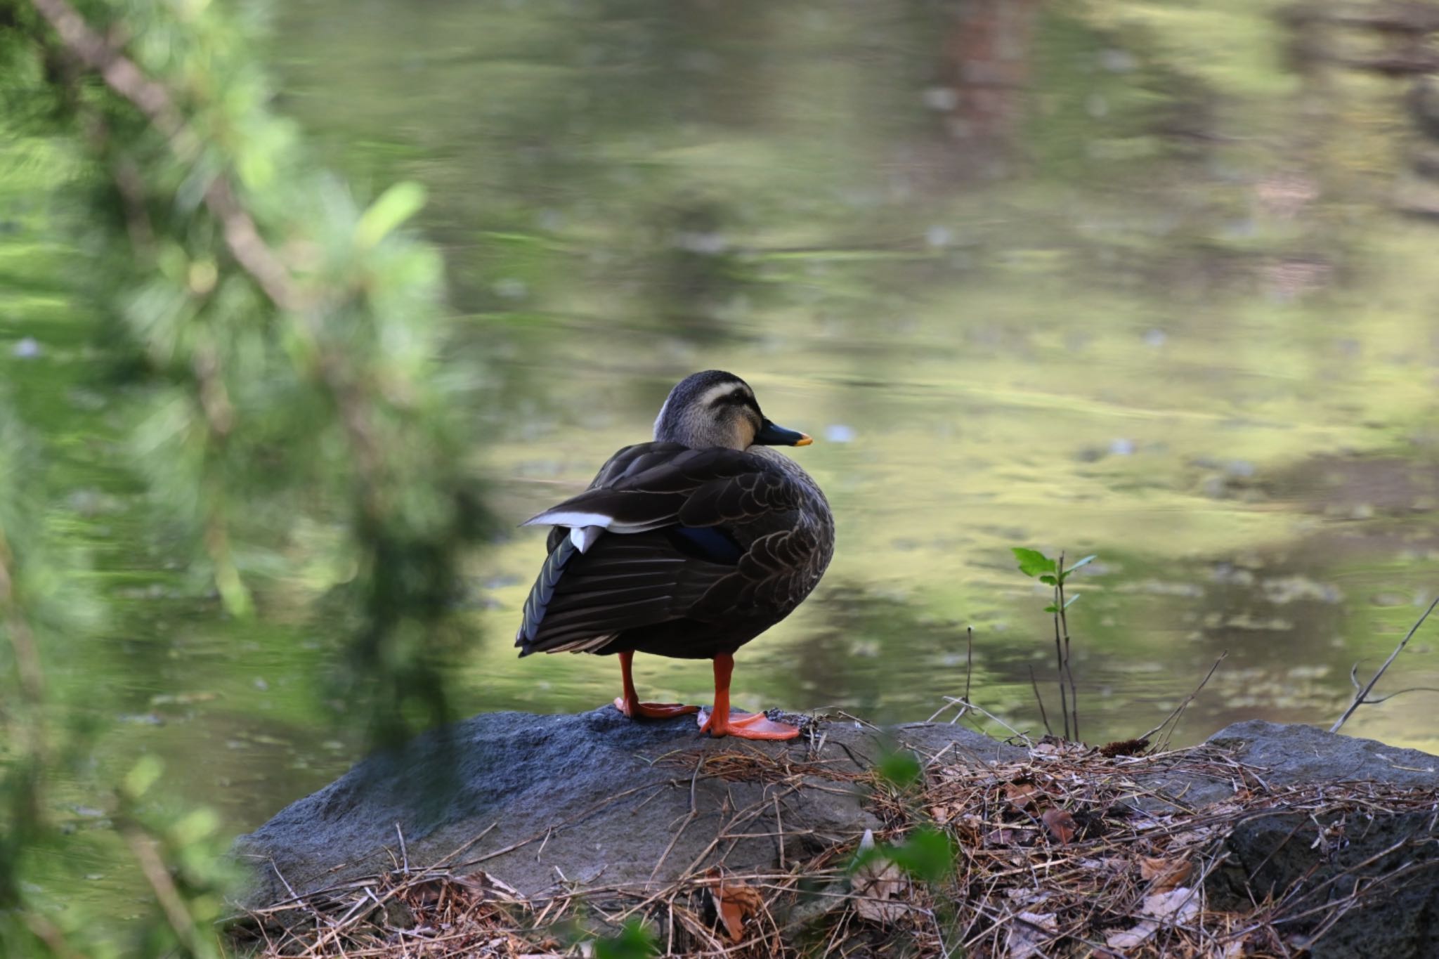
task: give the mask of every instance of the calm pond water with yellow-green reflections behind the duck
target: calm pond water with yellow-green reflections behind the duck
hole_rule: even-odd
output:
[[[968,683],[1042,732],[1048,597],[1010,554],[1032,546],[1098,555],[1071,589],[1086,740],[1158,725],[1227,650],[1183,743],[1333,722],[1439,589],[1439,226],[1412,216],[1406,86],[1295,62],[1278,4],[1204,6],[294,0],[271,56],[358,194],[427,188],[507,522],[648,439],[694,370],[816,437],[793,454],[837,554],[741,651],[737,705],[918,720]],[[119,466],[95,319],[24,226],[43,171],[14,167],[0,246],[30,286],[0,370],[119,617],[52,670],[88,690],[96,765],[158,752],[178,797],[253,828],[363,751],[317,692],[337,640],[288,604],[304,584],[259,624],[191,598]],[[614,696],[613,659],[515,659],[541,558],[518,529],[475,558],[460,712]],[[1433,630],[1381,689],[1439,687]],[[637,679],[708,702],[707,663]],[[1439,751],[1435,696],[1345,730]],[[104,822],[104,795],[71,798]]]

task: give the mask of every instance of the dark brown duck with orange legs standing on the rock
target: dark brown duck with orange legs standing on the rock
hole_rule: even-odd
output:
[[[740,377],[681,380],[653,440],[626,446],[594,482],[524,526],[550,526],[515,646],[616,656],[630,719],[696,715],[709,736],[793,739],[799,728],[730,707],[735,651],[793,612],[835,555],[819,483],[774,447],[813,440],[777,426]],[[714,661],[714,707],[645,703],[636,653]]]

